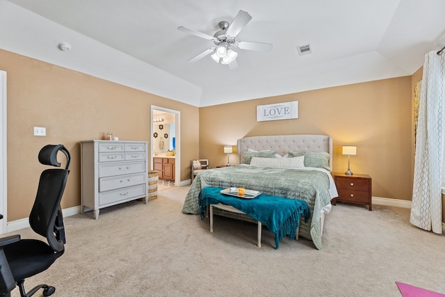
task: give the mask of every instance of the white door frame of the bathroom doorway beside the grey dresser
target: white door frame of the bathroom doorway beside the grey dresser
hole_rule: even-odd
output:
[[[152,105],[150,111],[150,137],[149,139],[153,141],[153,111],[165,111],[166,113],[175,114],[175,186],[179,186],[181,182],[181,111],[175,111],[173,109],[166,109],[165,107]],[[150,156],[150,168],[153,168],[153,145],[149,145],[149,156]]]

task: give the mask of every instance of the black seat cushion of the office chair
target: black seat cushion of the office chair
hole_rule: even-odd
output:
[[[56,261],[54,250],[35,239],[22,239],[3,250],[16,282],[47,270]]]

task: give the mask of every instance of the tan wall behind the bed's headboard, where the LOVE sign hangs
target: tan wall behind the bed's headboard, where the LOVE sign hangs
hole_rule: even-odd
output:
[[[373,178],[373,196],[411,200],[412,81],[385,79],[200,109],[200,157],[227,163],[224,145],[245,136],[327,134],[334,141],[334,172],[345,172],[341,145],[357,145],[351,170]],[[298,101],[299,118],[257,122],[257,105]],[[232,154],[231,163],[238,163]]]

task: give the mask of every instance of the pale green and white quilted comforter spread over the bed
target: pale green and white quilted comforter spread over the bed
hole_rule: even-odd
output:
[[[323,207],[330,204],[332,197],[330,175],[320,168],[261,168],[254,166],[232,166],[202,170],[187,193],[182,212],[200,214],[198,195],[204,186],[228,188],[243,186],[266,195],[299,199],[307,202],[311,218],[300,221],[300,236],[312,240],[321,249],[320,216]],[[332,183],[332,182],[331,182]]]

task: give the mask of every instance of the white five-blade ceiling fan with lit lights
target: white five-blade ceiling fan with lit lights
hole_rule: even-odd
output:
[[[196,62],[201,58],[212,54],[211,58],[213,58],[216,63],[229,65],[229,69],[232,70],[238,67],[238,63],[236,62],[236,56],[238,56],[238,53],[236,53],[234,49],[248,49],[250,51],[270,51],[272,49],[272,44],[270,43],[235,40],[236,35],[238,35],[238,33],[243,30],[245,25],[250,22],[250,19],[252,19],[252,17],[248,13],[240,10],[232,21],[232,24],[229,24],[229,22],[226,21],[219,22],[218,26],[221,30],[216,32],[213,36],[193,29],[188,29],[184,26],[179,26],[179,31],[211,40],[216,45],[216,47],[206,49],[201,54],[198,54],[197,56],[191,58],[190,60],[188,60],[188,62]]]

